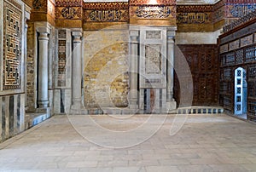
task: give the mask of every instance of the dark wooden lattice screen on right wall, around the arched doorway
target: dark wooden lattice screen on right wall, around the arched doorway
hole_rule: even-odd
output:
[[[255,44],[255,12],[237,20],[240,26],[233,31],[231,27],[219,38],[220,47],[220,105],[225,111],[235,112],[235,70],[242,67],[247,73],[247,119],[256,120],[256,44]],[[247,22],[250,21],[250,22]],[[245,24],[245,23],[248,24]],[[236,25],[234,25],[236,26]],[[221,50],[229,44],[229,49]],[[236,45],[235,45],[236,44]]]

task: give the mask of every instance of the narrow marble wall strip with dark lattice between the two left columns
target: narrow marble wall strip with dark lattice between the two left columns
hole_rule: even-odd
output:
[[[72,97],[72,37],[71,30],[61,28],[55,30],[55,60],[52,64],[53,79],[53,112],[69,112]]]

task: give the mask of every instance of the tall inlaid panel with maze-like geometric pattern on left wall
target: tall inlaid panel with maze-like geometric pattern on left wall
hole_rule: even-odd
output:
[[[22,10],[15,1],[3,5],[3,89],[20,89]]]

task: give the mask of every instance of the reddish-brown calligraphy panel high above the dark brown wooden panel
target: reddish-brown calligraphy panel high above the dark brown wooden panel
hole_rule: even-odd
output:
[[[211,13],[177,13],[178,24],[202,24],[211,22]]]

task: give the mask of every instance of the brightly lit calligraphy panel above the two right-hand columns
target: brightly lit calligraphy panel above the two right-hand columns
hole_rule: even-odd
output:
[[[137,18],[143,19],[166,19],[173,17],[175,7],[164,7],[164,6],[140,6],[135,9]]]

